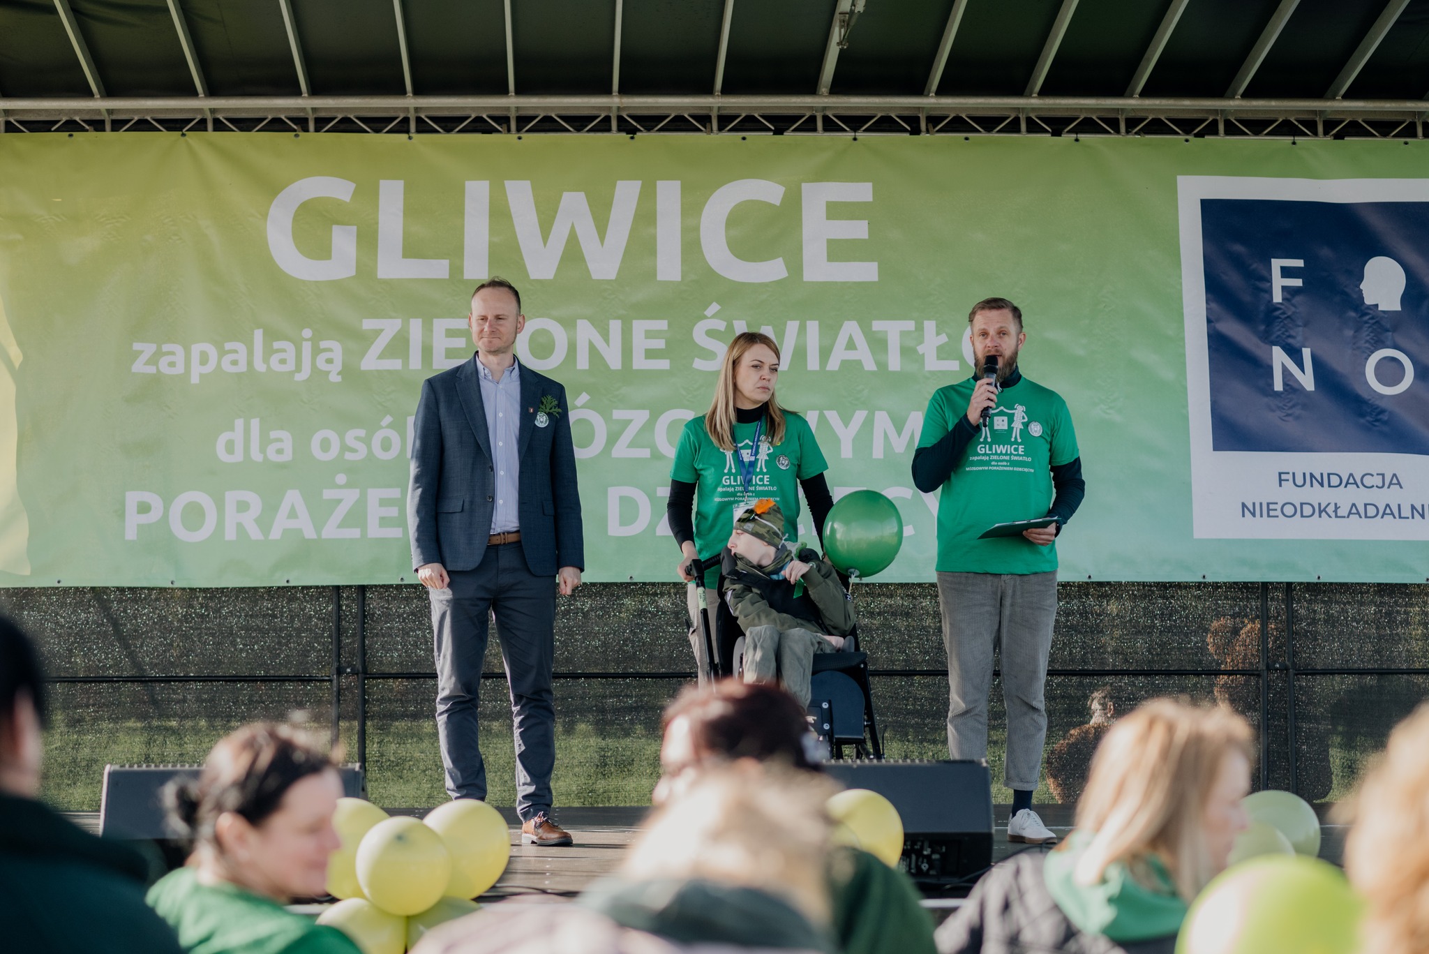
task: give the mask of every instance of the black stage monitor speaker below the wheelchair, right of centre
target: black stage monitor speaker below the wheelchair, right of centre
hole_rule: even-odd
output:
[[[926,890],[992,867],[992,784],[983,761],[830,761],[830,778],[893,802],[903,820],[900,867]]]

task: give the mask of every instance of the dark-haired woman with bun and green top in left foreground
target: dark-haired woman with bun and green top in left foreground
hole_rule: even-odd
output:
[[[327,894],[342,795],[332,758],[294,729],[231,732],[197,781],[164,791],[169,824],[193,854],[149,890],[149,904],[190,954],[359,954],[342,931],[283,910]]]

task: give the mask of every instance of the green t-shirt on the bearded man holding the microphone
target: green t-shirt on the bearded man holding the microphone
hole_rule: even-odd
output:
[[[977,378],[939,388],[927,402],[917,446],[937,443],[966,416]],[[943,483],[937,501],[937,571],[946,574],[1045,574],[1057,568],[1057,545],[1025,536],[977,539],[993,523],[1045,516],[1052,468],[1079,456],[1062,395],[1026,378],[997,395],[977,433]]]

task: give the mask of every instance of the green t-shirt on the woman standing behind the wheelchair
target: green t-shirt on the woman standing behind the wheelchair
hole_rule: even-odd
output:
[[[760,435],[757,449],[756,431]],[[735,425],[735,452],[720,451],[704,429],[704,415],[700,415],[684,425],[680,445],[674,449],[670,479],[696,485],[694,549],[704,559],[729,544],[737,511],[762,496],[772,498],[783,511],[786,536],[799,539],[799,481],[829,469],[809,422],[787,410],[780,443],[770,445],[767,422],[755,422]],[[713,585],[713,579],[707,585]]]

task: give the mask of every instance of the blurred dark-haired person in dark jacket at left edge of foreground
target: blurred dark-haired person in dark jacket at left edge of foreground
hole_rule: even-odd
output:
[[[30,639],[0,616],[0,937],[27,954],[180,954],[144,904],[147,862],[39,801],[44,679]]]

